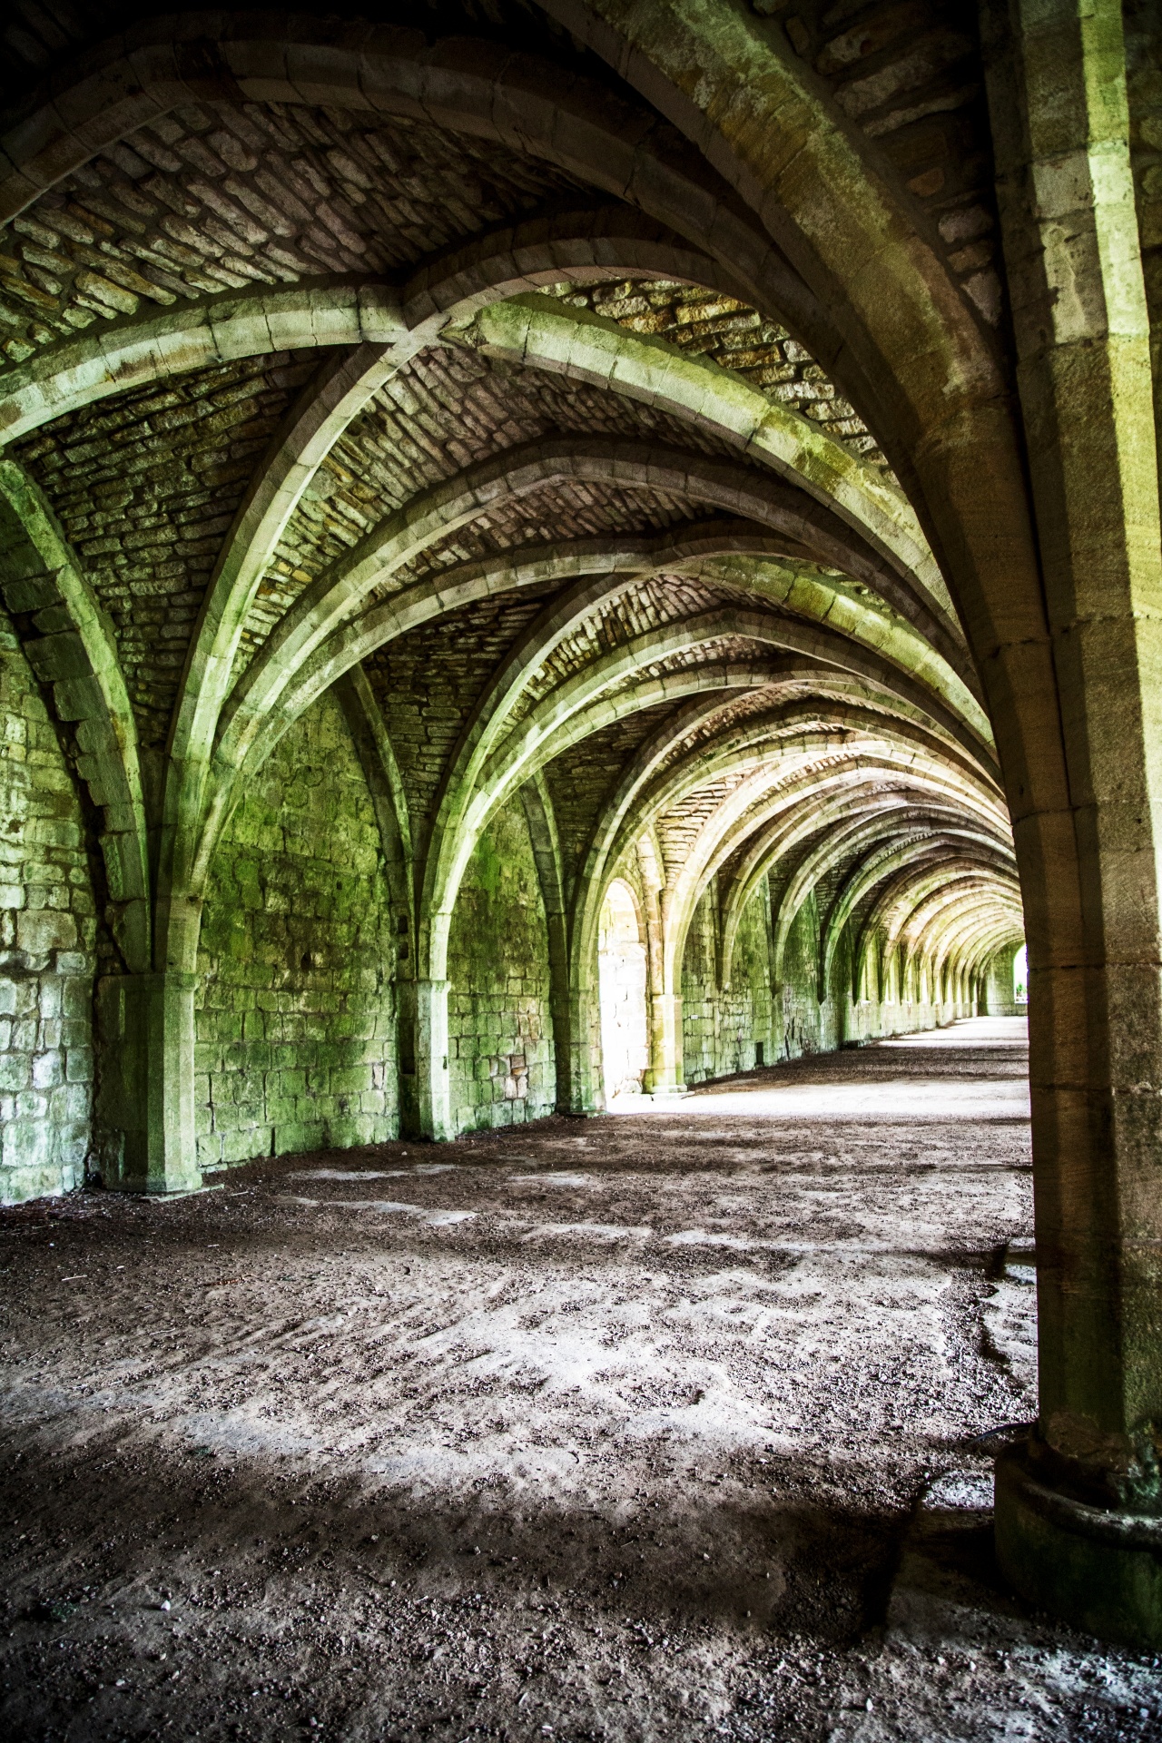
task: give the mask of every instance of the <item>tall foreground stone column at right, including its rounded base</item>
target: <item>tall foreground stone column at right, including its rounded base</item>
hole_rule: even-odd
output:
[[[1010,0],[988,19],[1068,769],[1059,812],[1016,830],[1045,891],[1030,926],[1040,1414],[996,1466],[996,1550],[1031,1602],[1157,1649],[1162,560],[1122,12]]]

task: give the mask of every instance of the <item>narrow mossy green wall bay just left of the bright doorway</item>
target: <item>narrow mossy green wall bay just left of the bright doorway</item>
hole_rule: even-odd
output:
[[[519,805],[493,814],[472,854],[448,939],[448,980],[456,1131],[551,1114],[549,929]]]

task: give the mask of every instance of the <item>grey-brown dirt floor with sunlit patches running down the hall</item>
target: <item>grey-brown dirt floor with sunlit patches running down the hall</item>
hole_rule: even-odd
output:
[[[1023,1025],[0,1213],[0,1736],[1162,1738],[1030,1616]]]

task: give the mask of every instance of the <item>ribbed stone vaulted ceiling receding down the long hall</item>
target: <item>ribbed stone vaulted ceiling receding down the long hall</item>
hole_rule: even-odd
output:
[[[418,978],[521,795],[578,973],[646,861],[671,981],[711,880],[725,981],[767,877],[777,948],[815,889],[826,960],[861,917],[984,960],[1021,933],[990,723],[859,359],[540,9],[420,10],[14,12],[3,593],[85,783],[108,960],[190,960],[223,828],[329,690]],[[829,16],[787,30],[991,335],[974,42],[932,24],[901,61],[902,24]]]

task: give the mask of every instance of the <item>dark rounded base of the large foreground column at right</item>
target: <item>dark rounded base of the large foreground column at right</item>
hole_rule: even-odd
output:
[[[1162,1518],[1049,1489],[1024,1447],[998,1454],[995,1494],[996,1562],[1023,1598],[1101,1640],[1162,1649]]]

